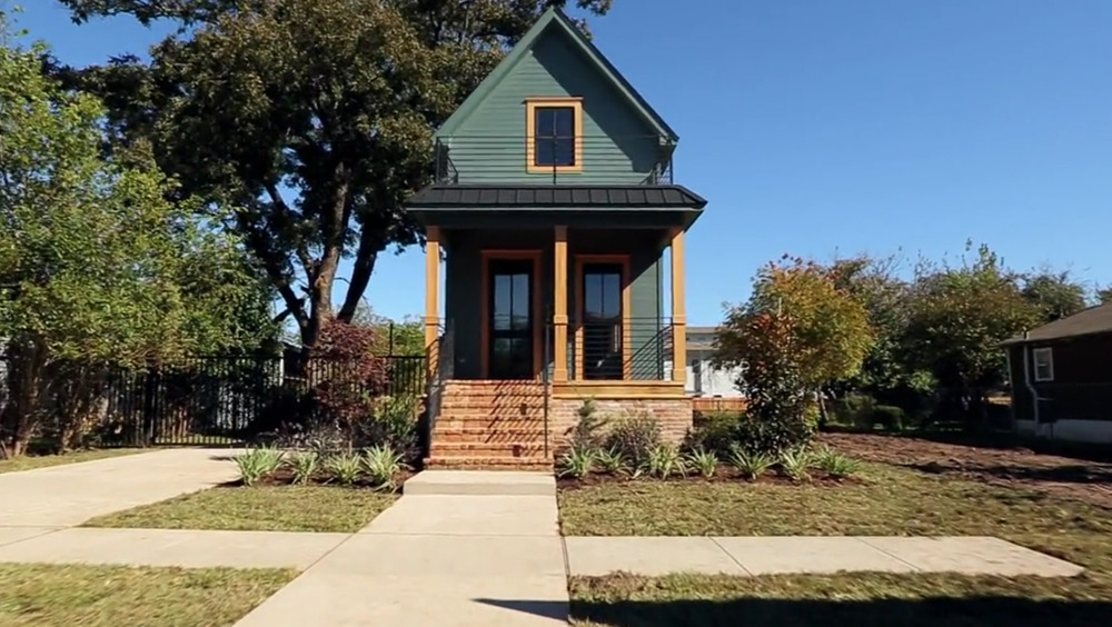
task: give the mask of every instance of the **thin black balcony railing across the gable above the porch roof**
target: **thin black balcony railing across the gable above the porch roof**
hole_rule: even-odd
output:
[[[441,137],[436,182],[672,185],[674,148],[658,136]]]

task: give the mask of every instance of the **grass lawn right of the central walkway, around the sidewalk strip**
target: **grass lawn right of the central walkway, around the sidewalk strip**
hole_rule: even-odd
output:
[[[1099,625],[1112,616],[1112,511],[1045,494],[864,466],[841,487],[637,481],[563,490],[565,535],[986,535],[1075,578],[848,574],[573,578],[575,625]]]

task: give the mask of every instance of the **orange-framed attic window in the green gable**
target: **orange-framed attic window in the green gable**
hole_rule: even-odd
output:
[[[526,100],[526,167],[534,173],[583,171],[583,102],[579,98]]]

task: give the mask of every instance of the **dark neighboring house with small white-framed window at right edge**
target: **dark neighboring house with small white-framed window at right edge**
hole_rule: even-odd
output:
[[[1004,342],[1016,430],[1112,444],[1112,303]]]

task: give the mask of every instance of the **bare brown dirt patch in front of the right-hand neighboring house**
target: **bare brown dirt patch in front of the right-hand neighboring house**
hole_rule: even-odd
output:
[[[820,441],[866,461],[955,475],[992,485],[1025,487],[1112,508],[1112,464],[906,436],[822,434]]]

